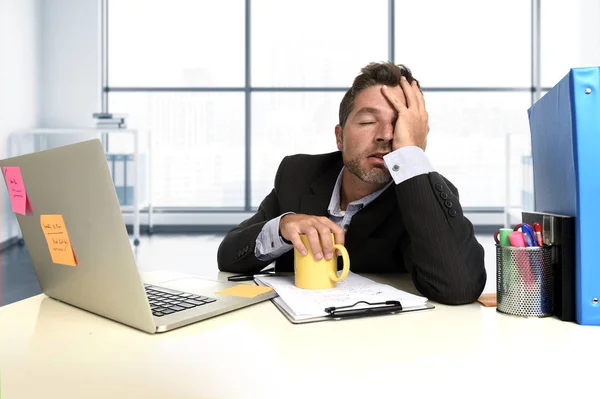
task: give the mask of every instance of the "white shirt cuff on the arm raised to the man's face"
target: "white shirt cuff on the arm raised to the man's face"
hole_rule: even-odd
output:
[[[384,155],[383,161],[396,184],[434,171],[425,152],[417,146],[398,148]]]

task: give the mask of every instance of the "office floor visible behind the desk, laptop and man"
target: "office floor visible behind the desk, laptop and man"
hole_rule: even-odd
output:
[[[136,250],[140,272],[171,270],[189,274],[211,273],[217,268],[216,253],[223,235],[166,234],[143,236]],[[496,290],[496,265],[492,235],[477,235],[485,248],[488,272],[485,292]],[[15,245],[0,257],[1,305],[41,293],[25,246]]]

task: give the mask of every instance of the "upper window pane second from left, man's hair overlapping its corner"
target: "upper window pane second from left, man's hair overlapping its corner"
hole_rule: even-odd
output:
[[[387,59],[387,0],[252,1],[252,85],[347,87]]]

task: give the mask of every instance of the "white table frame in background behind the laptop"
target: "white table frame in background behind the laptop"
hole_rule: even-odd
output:
[[[108,135],[108,134],[131,134],[133,136],[133,166],[134,166],[134,186],[133,186],[133,243],[135,246],[138,246],[140,243],[140,138],[137,129],[115,129],[115,128],[65,128],[65,129],[29,129],[18,131],[10,135],[8,142],[8,156],[17,156],[23,154],[23,149],[21,147],[22,140],[27,137],[32,137],[34,139],[34,147],[33,151],[41,151],[48,149],[48,135],[83,135],[87,136],[87,139],[98,138],[100,135]],[[151,140],[148,140],[149,142]],[[150,152],[150,147],[148,148],[148,152]],[[150,154],[148,154],[150,156]],[[151,160],[149,160],[148,165],[151,165]],[[152,181],[151,176],[151,167],[148,168],[148,196],[150,197],[151,186],[150,182]],[[127,209],[127,207],[122,207],[122,209]],[[148,223],[149,228],[152,230],[152,201],[148,200]],[[11,234],[14,236],[14,234]]]

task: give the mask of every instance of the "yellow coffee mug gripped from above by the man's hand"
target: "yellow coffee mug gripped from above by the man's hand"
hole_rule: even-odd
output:
[[[305,234],[300,234],[302,243],[308,250],[306,255],[302,255],[294,248],[294,273],[295,284],[298,288],[308,290],[323,290],[334,288],[339,281],[342,281],[350,272],[350,257],[348,251],[343,245],[335,244],[335,236],[331,234],[334,249],[338,249],[342,253],[344,260],[344,268],[342,274],[337,275],[337,251],[333,251],[333,258],[327,260],[325,256],[321,260],[315,259],[315,256],[308,242],[308,237]]]

